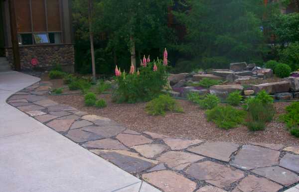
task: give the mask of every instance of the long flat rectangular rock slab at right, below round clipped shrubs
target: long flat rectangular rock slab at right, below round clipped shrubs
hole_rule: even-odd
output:
[[[281,82],[253,85],[251,86],[251,88],[255,91],[255,93],[259,93],[260,91],[265,90],[269,94],[277,94],[277,93],[289,92],[291,85],[288,81],[281,81]]]

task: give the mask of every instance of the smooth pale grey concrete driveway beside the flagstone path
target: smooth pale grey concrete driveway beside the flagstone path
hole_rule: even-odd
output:
[[[159,192],[5,102],[38,81],[0,73],[0,192]]]

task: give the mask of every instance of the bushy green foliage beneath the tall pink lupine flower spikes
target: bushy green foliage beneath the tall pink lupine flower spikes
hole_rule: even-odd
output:
[[[140,69],[140,75],[122,73],[116,77],[118,88],[113,93],[113,100],[122,103],[148,101],[161,94],[167,84],[166,67],[161,61],[156,62],[157,71],[153,71],[153,62]]]

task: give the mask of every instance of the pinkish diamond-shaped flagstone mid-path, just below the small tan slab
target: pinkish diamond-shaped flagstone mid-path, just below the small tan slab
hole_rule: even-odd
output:
[[[157,160],[166,163],[169,168],[183,170],[191,163],[194,163],[204,158],[205,157],[182,151],[168,151],[162,154],[159,158],[157,158]]]

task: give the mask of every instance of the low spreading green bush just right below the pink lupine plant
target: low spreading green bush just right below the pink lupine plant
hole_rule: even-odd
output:
[[[183,112],[183,108],[178,106],[176,100],[169,95],[160,95],[152,99],[146,106],[146,111],[150,115],[165,115],[166,111]]]

